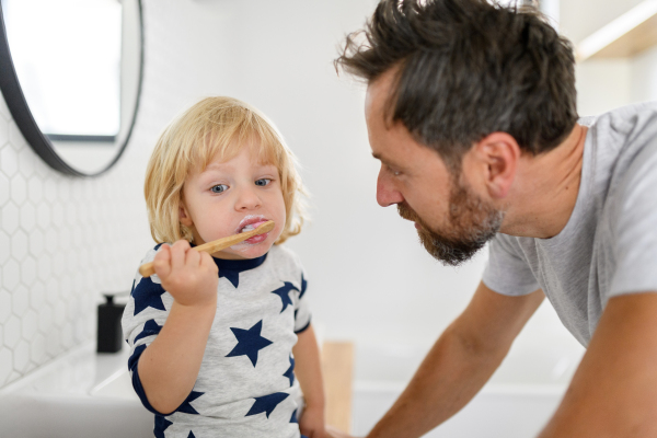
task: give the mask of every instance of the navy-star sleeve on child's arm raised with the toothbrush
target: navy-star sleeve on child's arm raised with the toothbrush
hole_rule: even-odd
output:
[[[151,250],[141,263],[151,262],[157,253],[157,247]],[[132,290],[128,303],[124,310],[122,326],[124,337],[130,347],[128,359],[128,370],[132,381],[132,388],[141,400],[143,406],[158,415],[162,414],[155,411],[148,401],[137,365],[141,354],[158,336],[160,330],[166,321],[173,298],[164,290],[157,275],[151,277],[141,277],[137,273],[132,283]]]

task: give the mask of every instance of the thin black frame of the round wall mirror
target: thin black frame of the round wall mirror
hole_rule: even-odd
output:
[[[130,122],[130,127],[128,128],[126,138],[120,145],[119,150],[117,151],[114,159],[101,171],[96,173],[84,173],[80,172],[77,169],[70,166],[66,161],[64,161],[57,152],[55,152],[53,148],[53,143],[39,129],[36,120],[34,119],[32,112],[30,111],[30,106],[27,105],[27,101],[25,100],[25,95],[23,94],[23,90],[21,89],[21,83],[19,82],[19,77],[13,66],[13,60],[11,58],[11,51],[9,49],[9,39],[7,37],[7,30],[4,27],[4,15],[2,14],[2,8],[0,0],[0,90],[2,90],[2,95],[4,97],[4,102],[7,102],[7,106],[13,117],[19,130],[25,137],[25,140],[30,143],[32,149],[53,169],[59,171],[64,174],[71,176],[99,176],[105,172],[107,172],[120,158],[128,141],[130,140],[130,136],[132,134],[132,128],[135,127],[135,120],[137,119],[137,112],[139,111],[139,101],[141,99],[141,85],[143,81],[143,9],[141,5],[141,0],[137,1],[137,8],[139,11],[139,78],[137,82],[137,99],[135,100],[135,111],[132,113],[132,119]]]

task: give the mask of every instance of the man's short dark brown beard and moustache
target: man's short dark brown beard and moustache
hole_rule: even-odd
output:
[[[504,219],[504,211],[486,204],[456,178],[449,196],[449,229],[431,230],[405,201],[397,204],[397,210],[402,218],[422,226],[417,230],[420,243],[434,258],[450,266],[472,258],[495,237]]]

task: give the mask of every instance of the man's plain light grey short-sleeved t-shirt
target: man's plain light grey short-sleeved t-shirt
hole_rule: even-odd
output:
[[[587,346],[610,298],[657,291],[657,102],[580,124],[589,130],[565,228],[551,239],[498,233],[483,281],[508,296],[543,289]]]

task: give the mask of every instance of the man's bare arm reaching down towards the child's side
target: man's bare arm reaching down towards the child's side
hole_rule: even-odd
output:
[[[543,298],[542,290],[503,296],[481,283],[368,438],[419,437],[459,412],[497,369]]]

